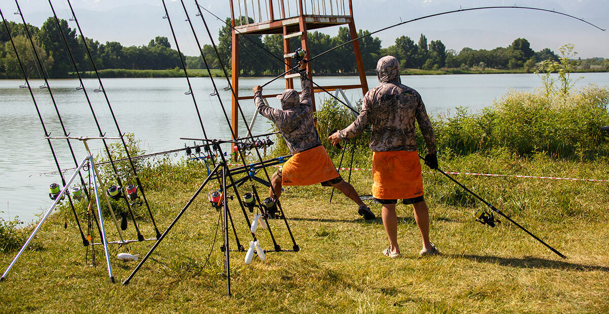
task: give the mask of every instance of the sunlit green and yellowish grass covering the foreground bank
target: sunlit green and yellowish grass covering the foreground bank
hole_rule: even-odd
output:
[[[606,159],[579,163],[543,154],[527,159],[502,151],[472,154],[440,160],[440,166],[445,171],[609,179]],[[203,190],[126,287],[120,283],[136,263],[121,262],[116,254],[127,248],[111,246],[118,283],[109,284],[102,250],[97,248],[97,266],[88,266],[74,221],[63,229],[63,213],[51,216],[34,240],[35,249],[26,251],[0,284],[0,312],[609,311],[606,182],[454,176],[567,255],[563,260],[505,219],[495,228],[476,223],[471,211],[484,205],[463,200],[470,196],[423,168],[431,240],[442,252],[438,257],[418,258],[420,235],[411,207],[398,205],[404,257],[387,259],[381,254],[387,238],[380,218],[363,221],[340,194],[329,204],[329,188],[290,187],[282,204],[300,252],[269,252],[266,261],[254,257],[251,265],[244,264],[244,252],[231,253],[233,298],[225,298],[221,230],[205,262],[219,215],[205,195],[214,184]],[[143,177],[157,224],[164,229],[205,173],[197,164],[163,164]],[[369,172],[354,172],[352,182],[360,193],[369,193]],[[263,196],[266,190],[258,188]],[[230,207],[247,249],[251,237],[243,213],[236,201]],[[371,208],[380,216],[379,205]],[[143,233],[152,235],[149,219],[139,222]],[[108,237],[116,239],[110,220],[105,224]],[[284,224],[271,221],[271,227],[281,248],[290,249]],[[131,225],[127,233],[134,237]],[[272,249],[268,232],[257,235],[262,248]],[[230,239],[234,248],[232,232]],[[133,243],[128,251],[143,256],[152,244]],[[14,255],[0,253],[2,269]]]

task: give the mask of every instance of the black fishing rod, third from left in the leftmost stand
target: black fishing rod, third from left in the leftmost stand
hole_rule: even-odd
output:
[[[76,76],[77,76],[77,78],[79,80],[79,83],[80,83],[80,87],[78,87],[77,90],[78,89],[82,89],[83,93],[85,94],[86,102],[89,104],[89,107],[91,108],[91,110],[93,110],[93,105],[91,105],[91,99],[89,99],[89,94],[86,91],[85,84],[84,84],[84,82],[82,80],[82,77],[80,77],[79,68],[76,65],[76,61],[74,61],[74,55],[72,55],[72,49],[70,49],[70,47],[68,45],[68,40],[66,39],[66,35],[63,32],[62,24],[60,23],[59,18],[57,17],[57,13],[55,12],[55,8],[53,7],[53,4],[52,4],[51,0],[48,0],[48,2],[49,2],[49,6],[51,6],[51,11],[53,12],[53,16],[54,16],[55,23],[57,24],[57,28],[59,29],[59,32],[62,35],[63,45],[65,46],[66,51],[68,52],[68,57],[69,57],[69,59],[70,59],[70,61],[72,63],[72,67],[74,67],[74,73],[76,73]],[[101,130],[100,130],[100,134],[101,134]],[[107,152],[108,152],[108,155],[110,155],[110,151],[107,150]],[[110,157],[110,161],[111,160],[112,159]],[[119,187],[122,187],[123,185],[122,185],[120,177],[118,176],[118,172],[116,171],[116,166],[114,166],[114,162],[111,162],[111,165],[112,165],[112,168],[114,169],[114,177],[116,177],[116,182],[118,183]],[[113,188],[114,188],[114,190],[111,190]],[[124,197],[124,193],[121,193],[121,191],[118,190],[116,188],[116,186],[114,186],[114,185],[112,185],[112,186],[110,186],[110,188],[108,188],[108,194],[109,194],[109,196],[111,198],[113,198],[115,200],[117,200],[118,198],[121,198],[121,196]],[[141,234],[141,232],[139,232],[138,223],[135,220],[135,215],[133,215],[133,210],[131,209],[131,204],[127,201],[126,197],[124,197],[124,199],[125,199],[125,203],[127,204],[127,212],[129,213],[129,215],[131,216],[131,219],[133,221],[133,226],[135,227],[136,235],[138,237],[138,240],[139,241],[143,241],[144,240],[144,236]],[[125,230],[125,229],[127,229],[127,226],[126,226],[127,221],[125,219],[124,213],[122,213],[121,216],[122,216],[121,229]]]

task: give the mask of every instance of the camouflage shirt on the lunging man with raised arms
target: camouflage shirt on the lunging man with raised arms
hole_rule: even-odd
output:
[[[298,98],[298,92],[292,89],[285,90],[281,94],[281,109],[271,108],[264,104],[262,91],[254,93],[256,110],[276,124],[292,154],[322,144],[313,123],[311,82],[306,75],[306,71],[300,73],[300,86],[302,87],[300,98]]]

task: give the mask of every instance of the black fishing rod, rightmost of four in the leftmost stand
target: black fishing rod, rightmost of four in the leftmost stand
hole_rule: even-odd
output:
[[[93,66],[93,71],[95,72],[95,75],[97,76],[97,81],[99,82],[99,87],[100,87],[99,91],[104,93],[105,101],[108,104],[108,109],[110,110],[110,114],[112,115],[112,119],[114,120],[114,125],[116,126],[116,130],[118,130],[119,137],[121,138],[122,146],[125,149],[125,153],[127,154],[127,159],[129,160],[129,165],[131,166],[131,169],[133,171],[135,181],[137,184],[136,186],[139,188],[139,191],[142,194],[142,198],[144,199],[144,204],[146,204],[146,209],[148,210],[148,214],[150,216],[150,219],[152,220],[152,225],[154,227],[154,230],[156,232],[156,236],[158,239],[159,237],[161,237],[161,233],[158,231],[157,223],[155,222],[154,216],[152,215],[152,211],[150,210],[150,205],[148,204],[148,199],[146,198],[146,194],[144,193],[144,185],[139,180],[138,171],[135,168],[135,165],[133,164],[133,160],[131,160],[131,154],[129,152],[129,149],[127,148],[127,143],[125,142],[124,134],[121,132],[121,128],[119,127],[118,121],[116,120],[116,115],[114,115],[114,110],[112,110],[112,105],[110,105],[110,99],[108,99],[108,94],[106,93],[104,84],[102,83],[102,79],[99,76],[99,71],[97,71],[97,66],[95,65],[93,56],[91,55],[91,50],[89,49],[89,45],[86,43],[85,35],[82,33],[82,28],[80,27],[78,18],[76,18],[76,13],[74,13],[74,8],[72,7],[72,3],[70,2],[70,0],[66,0],[66,1],[68,2],[70,11],[72,13],[72,18],[74,19],[74,22],[76,22],[76,26],[79,30],[80,38],[82,39],[83,45],[85,46],[85,49],[86,49],[86,54],[88,55],[88,57],[91,61],[91,66]],[[97,123],[97,119],[96,119],[96,123]],[[99,124],[98,124],[98,129],[99,129]],[[100,134],[102,134],[101,129],[100,129]],[[105,140],[103,140],[103,141],[104,141],[104,146],[107,146]],[[108,148],[106,147],[106,149],[108,149]],[[108,158],[110,160],[112,159],[109,151],[108,151]]]

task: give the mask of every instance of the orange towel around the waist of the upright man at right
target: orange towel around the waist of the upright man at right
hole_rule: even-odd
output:
[[[417,151],[374,152],[372,196],[409,199],[423,195],[423,175]]]

